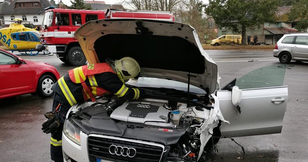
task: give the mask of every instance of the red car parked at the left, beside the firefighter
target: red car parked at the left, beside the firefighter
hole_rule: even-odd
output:
[[[27,61],[0,48],[0,99],[28,93],[50,97],[59,78],[50,64]]]

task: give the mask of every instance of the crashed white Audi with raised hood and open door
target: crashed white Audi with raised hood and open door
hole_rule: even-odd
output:
[[[135,58],[140,78],[126,84],[151,92],[74,105],[63,129],[65,162],[197,162],[218,142],[212,135],[281,132],[288,87],[239,89],[233,81],[219,90],[218,67],[189,25],[106,19],[75,36],[89,64]]]

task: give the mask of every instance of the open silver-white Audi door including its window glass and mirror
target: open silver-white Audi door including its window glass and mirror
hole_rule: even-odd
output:
[[[228,123],[222,123],[223,136],[281,133],[288,101],[283,86],[285,67],[256,69],[217,92],[220,110]]]

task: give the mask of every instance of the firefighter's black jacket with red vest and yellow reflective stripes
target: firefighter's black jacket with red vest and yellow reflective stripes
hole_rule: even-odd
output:
[[[107,63],[84,65],[69,71],[53,85],[53,90],[71,106],[78,102],[113,93],[123,99],[143,96],[138,88],[128,88]]]

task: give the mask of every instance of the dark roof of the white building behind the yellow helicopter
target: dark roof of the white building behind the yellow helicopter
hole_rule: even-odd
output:
[[[20,7],[15,8],[15,3],[18,2],[39,2],[41,7]],[[2,14],[38,14],[42,8],[53,5],[49,0],[14,0],[5,9]]]

